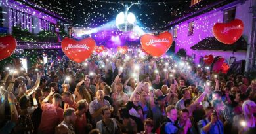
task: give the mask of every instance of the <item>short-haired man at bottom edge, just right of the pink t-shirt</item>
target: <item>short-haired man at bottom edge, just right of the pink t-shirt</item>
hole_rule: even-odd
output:
[[[74,124],[77,116],[75,116],[75,109],[68,108],[63,113],[64,120],[56,126],[55,133],[58,134],[75,134]]]

